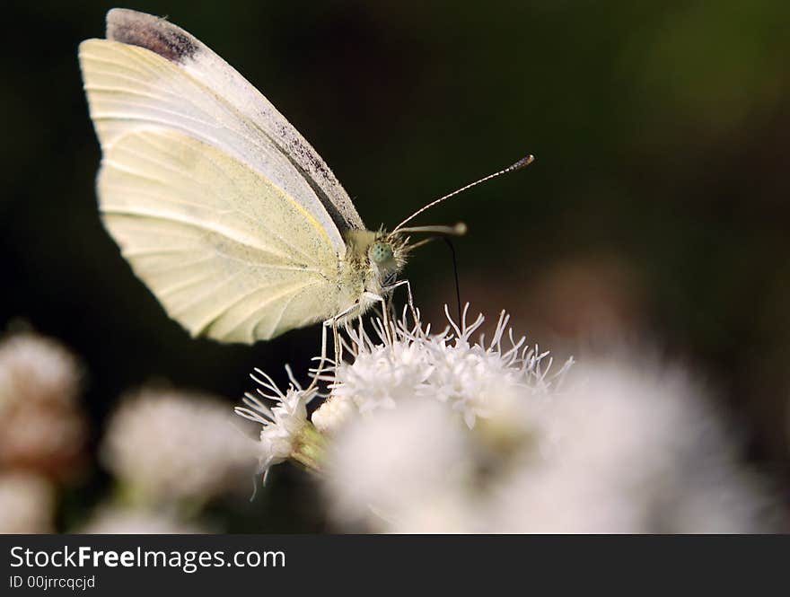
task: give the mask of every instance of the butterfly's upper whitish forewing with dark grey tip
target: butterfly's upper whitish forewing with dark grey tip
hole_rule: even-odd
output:
[[[100,137],[110,140],[141,119],[164,117],[169,125],[184,127],[209,143],[230,142],[242,160],[265,172],[292,197],[304,199],[309,211],[326,211],[340,232],[364,229],[346,191],[320,155],[255,87],[206,45],[171,22],[126,9],[107,13],[107,39],[121,44],[120,48],[106,42],[97,48],[94,40],[88,40],[81,51],[83,72],[86,62],[93,59],[103,64],[94,64],[92,70],[114,75],[95,84],[86,79],[89,94],[94,96],[92,116],[95,121],[101,119],[102,111],[112,114],[119,108],[135,112],[132,120],[97,123]],[[128,52],[129,46],[148,51]],[[141,84],[149,92],[147,98],[140,94]],[[102,93],[102,85],[110,87],[108,93]],[[119,96],[119,88],[131,96]]]

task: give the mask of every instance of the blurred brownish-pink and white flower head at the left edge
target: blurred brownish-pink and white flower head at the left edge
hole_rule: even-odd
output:
[[[77,469],[86,425],[80,367],[66,348],[31,333],[0,343],[0,467],[63,478]]]

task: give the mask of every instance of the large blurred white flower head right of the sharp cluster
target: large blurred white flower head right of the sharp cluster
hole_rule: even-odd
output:
[[[544,412],[540,458],[496,479],[491,531],[770,529],[771,500],[683,370],[617,359],[574,376]]]

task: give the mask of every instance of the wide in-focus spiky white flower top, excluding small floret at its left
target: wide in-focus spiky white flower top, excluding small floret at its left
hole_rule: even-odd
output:
[[[505,312],[487,345],[482,338],[480,343],[472,343],[471,337],[484,318],[479,315],[468,324],[468,309],[469,305],[458,324],[447,313],[451,328],[438,334],[419,324],[409,328],[405,318],[392,325],[389,333],[380,327],[381,344],[373,344],[364,331],[360,334],[347,328],[355,359],[336,367],[331,399],[351,401],[362,414],[396,408],[403,399],[437,399],[459,412],[471,428],[478,418],[491,417],[505,405],[531,408],[524,404],[525,395],[548,396],[553,381],[557,376],[561,379],[572,361],[549,379],[549,353],[526,347],[526,338],[514,340]],[[509,347],[503,346],[505,335]]]

